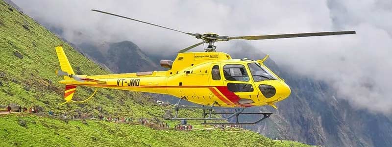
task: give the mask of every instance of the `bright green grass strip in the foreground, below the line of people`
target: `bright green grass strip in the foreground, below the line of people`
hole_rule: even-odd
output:
[[[27,113],[0,116],[0,128],[1,147],[309,147],[247,130],[155,130],[93,120],[65,122]]]

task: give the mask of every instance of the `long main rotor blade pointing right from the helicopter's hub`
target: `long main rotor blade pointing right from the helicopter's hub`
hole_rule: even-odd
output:
[[[234,37],[227,37],[227,39],[228,40],[232,40],[232,39],[261,40],[261,39],[279,39],[279,38],[328,36],[328,35],[344,35],[344,34],[355,34],[355,31],[316,32],[316,33],[297,33],[297,34],[276,34],[276,35],[259,35],[259,36],[234,36]]]

